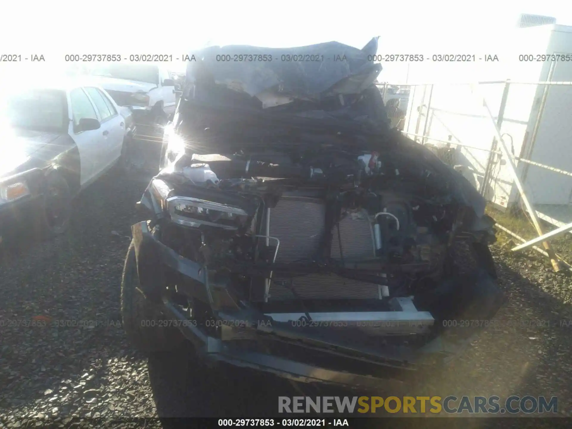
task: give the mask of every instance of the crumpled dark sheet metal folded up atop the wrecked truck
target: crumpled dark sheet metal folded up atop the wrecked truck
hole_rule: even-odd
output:
[[[339,42],[288,48],[210,46],[190,54],[196,61],[189,62],[186,81],[193,84],[208,74],[217,85],[251,97],[262,94],[261,101],[269,93],[317,101],[323,94],[357,94],[370,86],[382,70],[368,60],[377,50],[377,37],[363,49]]]

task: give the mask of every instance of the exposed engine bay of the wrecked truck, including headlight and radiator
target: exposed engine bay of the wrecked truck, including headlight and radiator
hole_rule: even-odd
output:
[[[312,319],[392,311],[401,298],[417,311],[455,269],[459,241],[494,240],[490,229],[463,238],[476,216],[455,200],[454,174],[397,146],[383,155],[308,152],[184,153],[155,179],[173,194],[162,242],[215,268],[231,308],[248,301]],[[433,318],[423,317],[427,328]]]

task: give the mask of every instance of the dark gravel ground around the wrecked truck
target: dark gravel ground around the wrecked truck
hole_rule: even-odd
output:
[[[121,327],[120,278],[146,184],[109,174],[80,196],[65,236],[23,240],[0,263],[0,417],[11,427],[38,416],[275,415],[278,395],[324,394],[246,370],[208,371],[190,348],[149,359],[133,351]],[[498,323],[412,393],[557,395],[559,415],[572,416],[570,277],[499,245],[493,252],[509,297]]]

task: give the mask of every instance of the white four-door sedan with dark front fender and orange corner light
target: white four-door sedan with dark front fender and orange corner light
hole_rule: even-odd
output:
[[[123,164],[132,122],[89,80],[0,89],[0,238],[13,223],[65,231],[72,199]]]

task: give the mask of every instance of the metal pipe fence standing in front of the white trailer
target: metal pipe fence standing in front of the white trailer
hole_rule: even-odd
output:
[[[558,229],[543,248],[530,247],[570,268],[565,259],[572,259],[572,82],[553,81],[563,73],[562,67],[561,76],[554,69],[550,82],[379,89],[386,104],[400,98],[405,107],[403,133],[462,173],[511,239],[520,245]]]

